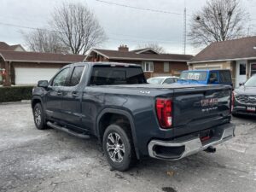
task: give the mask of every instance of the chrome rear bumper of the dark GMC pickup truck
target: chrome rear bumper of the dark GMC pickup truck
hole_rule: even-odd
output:
[[[214,130],[216,131],[214,137],[207,142],[201,142],[199,136],[181,137],[170,142],[151,140],[148,143],[148,154],[152,158],[161,160],[180,160],[235,137],[235,125],[233,124],[219,125]]]

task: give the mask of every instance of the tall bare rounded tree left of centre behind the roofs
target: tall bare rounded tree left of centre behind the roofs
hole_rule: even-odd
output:
[[[105,32],[95,15],[84,3],[63,3],[56,8],[50,20],[58,38],[73,54],[86,51],[106,40]]]

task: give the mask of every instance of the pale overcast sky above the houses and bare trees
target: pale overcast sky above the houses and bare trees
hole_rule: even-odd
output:
[[[104,0],[128,6],[158,9],[176,14],[156,13],[152,11],[119,7],[117,5],[98,2],[96,0],[79,0],[86,3],[95,13],[104,28],[108,41],[102,44],[103,49],[117,49],[119,44],[127,44],[136,49],[138,44],[158,43],[168,53],[183,53],[183,9],[184,0]],[[7,26],[5,24],[44,27],[50,13],[62,2],[78,2],[77,0],[0,0],[0,41],[8,44],[23,44],[20,31],[31,29]],[[256,0],[241,0],[249,12],[252,25],[256,24]],[[186,0],[187,22],[190,16],[200,9],[206,0]],[[189,30],[189,29],[188,29]],[[200,49],[187,44],[187,54],[195,55]]]

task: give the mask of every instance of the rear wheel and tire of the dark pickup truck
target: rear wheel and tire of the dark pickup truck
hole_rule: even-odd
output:
[[[124,172],[136,161],[131,133],[125,124],[109,125],[103,136],[103,149],[110,166]]]

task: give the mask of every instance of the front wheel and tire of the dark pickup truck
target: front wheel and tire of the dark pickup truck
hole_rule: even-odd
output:
[[[47,128],[44,119],[44,110],[41,103],[37,103],[33,108],[34,122],[38,130],[44,130]]]

